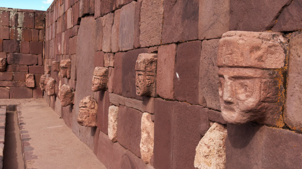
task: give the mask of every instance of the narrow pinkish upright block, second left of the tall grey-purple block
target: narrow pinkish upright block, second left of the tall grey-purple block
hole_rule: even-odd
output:
[[[111,30],[113,25],[113,13],[106,14],[102,19],[102,50],[103,52],[111,52]]]

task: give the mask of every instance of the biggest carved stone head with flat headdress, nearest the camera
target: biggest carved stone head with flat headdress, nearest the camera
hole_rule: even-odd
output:
[[[221,114],[231,124],[277,126],[281,115],[286,40],[281,34],[230,31],[219,41]]]

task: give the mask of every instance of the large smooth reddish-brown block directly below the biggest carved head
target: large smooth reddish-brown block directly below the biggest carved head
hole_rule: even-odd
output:
[[[227,125],[226,168],[301,168],[301,134],[256,123]]]

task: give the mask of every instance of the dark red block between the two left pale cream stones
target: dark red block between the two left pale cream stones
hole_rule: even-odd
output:
[[[119,107],[117,140],[137,157],[140,155],[141,118],[143,113],[125,106]],[[131,123],[129,123],[131,121]]]

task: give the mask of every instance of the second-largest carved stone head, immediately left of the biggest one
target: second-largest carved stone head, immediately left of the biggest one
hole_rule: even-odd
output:
[[[157,54],[139,54],[135,64],[135,86],[138,96],[156,96]]]

